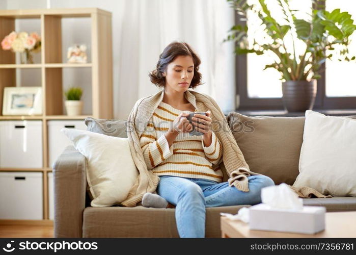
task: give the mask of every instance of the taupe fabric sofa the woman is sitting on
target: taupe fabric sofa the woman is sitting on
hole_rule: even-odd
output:
[[[227,120],[252,171],[271,177],[276,185],[293,184],[298,175],[304,117],[249,117],[231,112]],[[127,137],[125,123],[86,119],[88,130],[118,137]],[[179,237],[175,209],[91,207],[86,159],[73,146],[68,146],[59,157],[53,173],[54,237]],[[356,197],[305,198],[304,204],[324,206],[327,212],[356,211]],[[207,208],[206,237],[221,236],[220,212],[235,214],[249,206]]]

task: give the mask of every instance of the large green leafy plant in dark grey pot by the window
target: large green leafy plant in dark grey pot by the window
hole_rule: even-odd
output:
[[[281,74],[283,104],[289,112],[311,110],[316,95],[316,79],[320,78],[321,65],[326,59],[338,57],[339,61],[354,60],[348,56],[349,37],[356,25],[348,12],[335,9],[328,12],[324,8],[325,0],[312,1],[314,9],[309,19],[298,19],[298,11],[291,10],[289,0],[276,0],[283,20],[278,22],[272,17],[265,0],[257,5],[249,5],[246,0],[227,0],[239,15],[248,21],[248,11],[257,15],[259,28],[265,34],[265,42],[260,38],[247,38],[247,25],[234,25],[224,41],[236,41],[235,54],[255,53],[272,54],[276,60],[265,66],[275,68]],[[276,10],[277,11],[277,10]],[[286,35],[289,35],[288,37]],[[256,40],[257,39],[257,40]],[[291,48],[286,41],[292,40]],[[296,54],[296,41],[305,43],[302,54]],[[268,41],[268,43],[267,43]],[[334,55],[334,57],[333,57]]]

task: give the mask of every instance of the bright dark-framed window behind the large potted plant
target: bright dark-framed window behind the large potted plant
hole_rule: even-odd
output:
[[[303,3],[300,3],[303,2]],[[258,0],[248,0],[249,4],[258,4]],[[270,8],[272,16],[279,22],[283,18],[278,16],[280,11],[277,1],[266,1]],[[274,6],[273,6],[274,4]],[[299,10],[297,18],[307,19],[305,13],[311,12],[311,0],[291,0],[291,9]],[[348,11],[354,20],[356,20],[356,1],[348,0],[328,0],[326,10],[340,8],[341,11]],[[273,11],[276,10],[276,11]],[[252,13],[248,13],[249,32],[248,36],[255,33],[263,41],[263,36],[257,22],[254,22]],[[245,24],[246,21],[240,19],[236,14],[236,23]],[[282,21],[281,21],[282,19]],[[354,21],[356,22],[356,21]],[[261,33],[261,36],[258,34]],[[350,54],[356,55],[356,32],[352,35],[354,42],[350,45]],[[291,49],[291,35],[286,35],[287,49]],[[251,37],[248,38],[251,40]],[[290,44],[290,45],[289,45]],[[303,52],[305,45],[299,42],[296,50]],[[297,52],[298,54],[298,52]],[[264,66],[270,63],[273,56],[248,54],[236,56],[236,85],[239,94],[239,110],[261,110],[261,109],[284,109],[282,103],[282,82],[277,70],[268,68],[263,70]],[[322,66],[325,68],[322,77],[317,83],[317,97],[314,109],[354,109],[356,108],[356,82],[352,75],[356,70],[356,62],[326,61]]]

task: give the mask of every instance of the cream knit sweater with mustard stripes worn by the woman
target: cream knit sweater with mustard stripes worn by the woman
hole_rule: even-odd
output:
[[[203,136],[179,133],[169,147],[165,133],[181,113],[192,113],[173,108],[161,101],[140,137],[148,170],[159,175],[201,178],[221,183],[223,173],[218,167],[223,145],[212,132],[212,142],[204,146]],[[214,166],[213,166],[214,165]]]

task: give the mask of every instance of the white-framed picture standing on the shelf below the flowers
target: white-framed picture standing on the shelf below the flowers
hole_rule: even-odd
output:
[[[41,115],[42,87],[5,87],[3,115]]]

